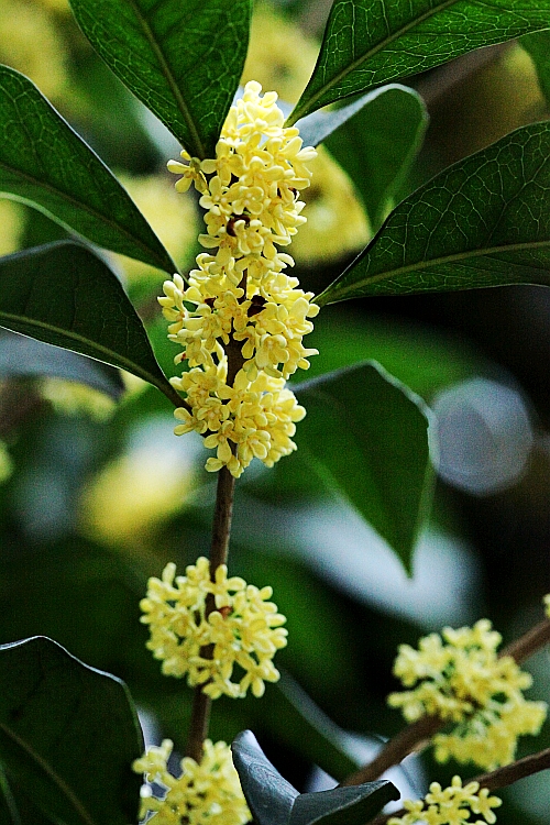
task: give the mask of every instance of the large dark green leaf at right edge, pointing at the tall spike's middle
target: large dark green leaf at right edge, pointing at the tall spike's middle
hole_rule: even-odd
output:
[[[316,298],[550,285],[550,123],[460,161],[392,212]]]

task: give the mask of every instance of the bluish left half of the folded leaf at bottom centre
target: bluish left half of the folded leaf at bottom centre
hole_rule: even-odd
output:
[[[265,757],[252,730],[243,730],[231,745],[241,787],[257,825],[287,825],[296,788],[283,779]]]

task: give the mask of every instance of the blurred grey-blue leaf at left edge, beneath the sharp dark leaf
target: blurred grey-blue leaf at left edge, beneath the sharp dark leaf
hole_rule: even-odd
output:
[[[118,370],[69,350],[0,329],[0,377],[48,375],[87,384],[118,400],[124,383]]]

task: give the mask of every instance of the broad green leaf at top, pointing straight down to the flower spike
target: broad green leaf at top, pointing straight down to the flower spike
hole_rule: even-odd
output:
[[[251,0],[70,0],[82,32],[193,157],[213,157],[241,78]]]

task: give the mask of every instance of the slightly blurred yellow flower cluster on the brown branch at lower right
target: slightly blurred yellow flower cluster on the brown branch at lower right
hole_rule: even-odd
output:
[[[502,637],[491,622],[442,636],[430,634],[415,650],[399,647],[395,675],[405,688],[392,693],[388,703],[400,707],[408,722],[424,715],[458,723],[450,734],[433,737],[436,759],[472,761],[486,770],[514,760],[517,737],[537,734],[546,718],[544,702],[530,702],[521,691],[531,685],[509,656],[497,657]]]

